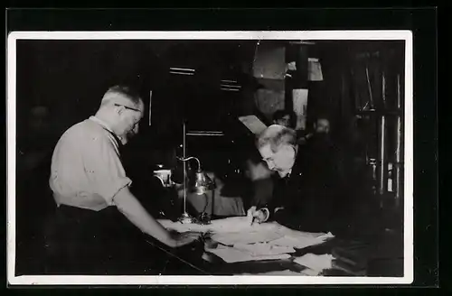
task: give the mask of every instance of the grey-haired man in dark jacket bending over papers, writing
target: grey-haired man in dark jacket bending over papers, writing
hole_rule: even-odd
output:
[[[277,171],[280,178],[268,205],[249,209],[250,219],[274,219],[302,231],[333,231],[334,163],[327,159],[312,162],[312,154],[300,153],[296,132],[281,125],[268,126],[257,146],[268,169]]]

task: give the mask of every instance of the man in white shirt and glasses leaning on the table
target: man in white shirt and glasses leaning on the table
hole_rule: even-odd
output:
[[[169,247],[188,245],[200,236],[171,234],[129,190],[132,181],[118,149],[137,134],[143,113],[142,99],[130,88],[109,88],[96,115],[71,126],[54,149],[49,182],[68,269],[103,271],[107,267],[99,264],[107,266],[115,256],[130,261],[124,252],[134,250],[124,245],[132,233],[137,238],[137,229]]]

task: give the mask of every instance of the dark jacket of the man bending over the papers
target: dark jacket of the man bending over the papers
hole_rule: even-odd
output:
[[[300,147],[290,175],[275,182],[268,203],[270,219],[302,231],[333,231],[336,199],[340,194],[337,161],[328,143],[313,139]],[[274,213],[275,208],[282,207]]]

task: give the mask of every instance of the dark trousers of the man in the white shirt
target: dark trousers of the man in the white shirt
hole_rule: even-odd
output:
[[[117,208],[61,206],[47,235],[52,273],[158,274],[165,253]]]

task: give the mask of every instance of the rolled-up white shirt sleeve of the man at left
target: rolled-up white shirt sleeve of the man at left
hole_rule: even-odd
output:
[[[118,150],[108,137],[89,139],[89,159],[85,168],[91,181],[93,193],[106,200],[108,206],[114,204],[119,190],[132,183],[119,159]]]

